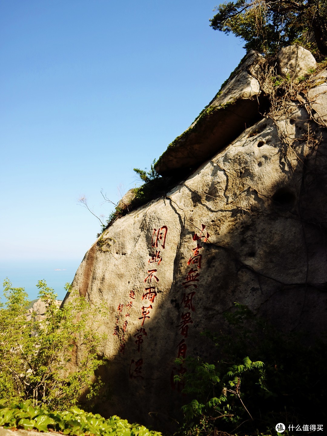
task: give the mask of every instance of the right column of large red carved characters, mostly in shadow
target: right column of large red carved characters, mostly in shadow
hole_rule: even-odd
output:
[[[200,252],[201,249],[203,249],[203,246],[200,245],[201,239],[203,239],[204,242],[207,242],[209,238],[208,232],[206,232],[206,235],[204,235],[204,229],[205,225],[201,225],[202,230],[200,235],[198,236],[196,233],[193,236],[193,241],[196,241],[197,245],[195,248],[192,249],[191,257],[187,261],[187,266],[191,266],[189,271],[187,272],[187,275],[184,277],[184,282],[182,283],[182,286],[184,289],[186,289],[186,292],[184,292],[183,298],[181,300],[181,307],[182,309],[188,309],[187,311],[184,310],[181,313],[181,324],[177,325],[178,329],[180,330],[181,336],[184,338],[181,340],[181,342],[177,345],[178,352],[177,352],[177,358],[185,359],[186,358],[186,352],[187,352],[187,344],[185,339],[188,337],[188,329],[189,324],[193,324],[193,320],[191,317],[191,312],[195,311],[194,301],[193,298],[196,295],[196,291],[194,290],[198,288],[198,282],[199,277],[201,275],[200,272],[198,272],[201,269],[201,259],[202,254]],[[191,288],[191,289],[190,289]],[[188,292],[190,291],[190,292]],[[178,392],[181,392],[183,389],[183,384],[181,382],[174,381],[175,375],[182,375],[186,372],[186,368],[184,367],[183,363],[180,364],[179,368],[174,367],[171,371],[170,375],[170,384],[173,390],[177,388]]]

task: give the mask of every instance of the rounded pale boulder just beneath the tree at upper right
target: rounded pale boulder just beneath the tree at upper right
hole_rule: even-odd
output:
[[[291,80],[298,78],[310,69],[317,67],[316,59],[309,50],[300,45],[289,45],[282,48],[277,55],[279,75],[289,76]]]

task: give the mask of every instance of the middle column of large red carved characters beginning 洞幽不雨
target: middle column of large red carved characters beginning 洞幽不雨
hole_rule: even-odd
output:
[[[135,343],[138,353],[140,353],[141,351],[141,346],[144,342],[144,338],[148,335],[145,330],[144,324],[146,323],[146,320],[150,319],[150,312],[154,307],[153,304],[157,296],[156,286],[158,286],[159,283],[159,278],[157,277],[159,276],[158,266],[160,265],[160,262],[162,262],[161,251],[165,248],[167,231],[168,228],[166,225],[158,229],[153,229],[151,239],[151,246],[153,251],[150,255],[150,259],[148,260],[149,266],[151,266],[152,269],[147,270],[147,276],[144,279],[146,287],[144,288],[145,292],[143,292],[143,295],[141,297],[141,304],[143,304],[143,306],[141,307],[141,316],[139,317],[140,329],[137,329],[137,333],[134,335],[134,337],[136,337]],[[143,378],[142,365],[143,358],[132,359],[129,365],[129,377]]]

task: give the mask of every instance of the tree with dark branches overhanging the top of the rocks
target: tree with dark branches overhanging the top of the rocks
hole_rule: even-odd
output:
[[[210,26],[241,37],[246,49],[273,53],[300,44],[327,56],[327,0],[236,0],[214,11]]]

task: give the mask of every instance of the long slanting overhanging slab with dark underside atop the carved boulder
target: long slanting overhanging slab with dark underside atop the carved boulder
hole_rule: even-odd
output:
[[[157,161],[159,174],[198,167],[261,118],[258,76],[264,58],[251,50],[227,84]]]

